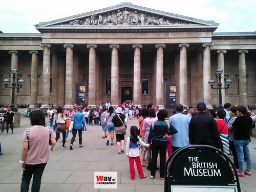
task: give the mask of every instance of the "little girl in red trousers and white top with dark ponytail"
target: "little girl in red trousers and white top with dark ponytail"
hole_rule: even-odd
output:
[[[141,145],[146,146],[146,147],[150,147],[150,144],[144,143],[139,138],[137,126],[131,126],[130,132],[131,132],[131,136],[127,137],[126,156],[129,157],[131,179],[135,179],[134,160],[137,164],[137,169],[139,172],[140,179],[143,179],[143,178],[146,178],[146,175],[143,173],[143,169],[142,169],[141,162],[140,162],[138,142]]]

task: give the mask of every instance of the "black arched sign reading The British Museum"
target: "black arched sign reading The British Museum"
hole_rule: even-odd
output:
[[[215,147],[209,145],[182,147],[166,162],[165,192],[240,192],[238,176],[234,179],[230,164],[235,170],[230,159]]]

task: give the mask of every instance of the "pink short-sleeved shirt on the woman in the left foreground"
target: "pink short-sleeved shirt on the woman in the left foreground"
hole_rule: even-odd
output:
[[[29,142],[29,148],[25,157],[26,164],[34,165],[49,161],[49,136],[48,126],[32,126],[29,132],[29,139],[25,130],[22,141]],[[51,138],[55,137],[54,132],[52,132]]]

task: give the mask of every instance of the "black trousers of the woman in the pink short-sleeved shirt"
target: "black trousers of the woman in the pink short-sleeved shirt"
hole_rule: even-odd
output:
[[[29,191],[29,184],[30,184],[32,175],[33,175],[33,183],[32,183],[31,191],[39,192],[42,173],[44,172],[45,167],[46,167],[46,163],[36,164],[36,165],[25,164],[26,170],[23,170],[22,184],[20,185],[20,192]]]

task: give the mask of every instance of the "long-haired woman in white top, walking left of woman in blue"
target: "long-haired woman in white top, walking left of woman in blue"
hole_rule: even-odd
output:
[[[56,141],[59,139],[59,134],[62,133],[62,148],[67,148],[65,146],[65,142],[66,140],[64,138],[66,138],[66,128],[65,128],[65,123],[66,123],[66,115],[63,112],[63,109],[61,108],[61,106],[59,106],[57,108],[57,113],[56,113]],[[51,151],[53,150],[54,145],[52,145],[51,147]]]

